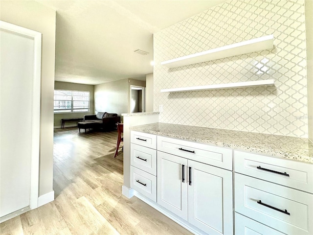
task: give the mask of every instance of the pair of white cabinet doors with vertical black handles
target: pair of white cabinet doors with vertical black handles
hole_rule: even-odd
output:
[[[157,203],[207,234],[232,234],[232,172],[157,152]]]

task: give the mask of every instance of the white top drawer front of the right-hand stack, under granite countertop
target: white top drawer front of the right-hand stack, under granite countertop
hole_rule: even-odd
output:
[[[313,164],[235,150],[235,172],[313,193]]]

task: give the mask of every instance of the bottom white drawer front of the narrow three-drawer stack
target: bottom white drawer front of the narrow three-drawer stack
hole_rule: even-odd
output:
[[[131,166],[131,187],[156,202],[156,176]]]

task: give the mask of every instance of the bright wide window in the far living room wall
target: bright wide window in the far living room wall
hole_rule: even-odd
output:
[[[89,112],[89,92],[54,90],[54,113]]]

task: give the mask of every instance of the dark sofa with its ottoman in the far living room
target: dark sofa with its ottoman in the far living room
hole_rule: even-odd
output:
[[[96,115],[85,115],[84,121],[78,122],[77,126],[80,129],[103,129],[104,131],[112,131],[116,129],[116,123],[121,121],[121,117],[117,114],[109,114],[107,112],[98,112]]]

